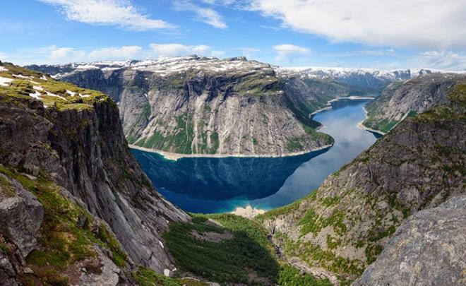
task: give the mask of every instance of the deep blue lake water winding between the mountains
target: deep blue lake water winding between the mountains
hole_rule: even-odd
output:
[[[376,141],[357,127],[364,119],[364,100],[333,102],[333,109],[316,114],[321,129],[335,145],[305,155],[259,158],[182,158],[165,160],[155,153],[134,150],[155,187],[169,201],[194,213],[219,213],[251,205],[271,209],[302,198],[329,174]]]

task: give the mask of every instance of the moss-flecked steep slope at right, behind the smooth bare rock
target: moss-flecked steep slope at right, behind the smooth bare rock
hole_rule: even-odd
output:
[[[441,82],[438,80],[438,86]],[[423,84],[417,82],[420,85],[417,88]],[[376,261],[387,245],[389,250],[381,259],[395,263],[393,258],[387,258],[389,254],[398,253],[398,248],[393,247],[414,247],[407,239],[411,236],[401,233],[412,230],[412,225],[400,228],[398,238],[390,240],[400,225],[419,210],[436,207],[448,198],[465,193],[465,114],[466,85],[458,83],[450,89],[446,104],[408,117],[371,148],[330,175],[310,196],[270,210],[256,220],[268,228],[287,261],[314,274],[326,273],[328,278],[354,280]],[[429,213],[418,213],[417,218],[423,215]],[[414,222],[414,218],[411,221]],[[431,220],[426,218],[426,221]],[[418,230],[428,230],[428,227],[423,224]],[[432,230],[439,232],[436,228]],[[455,234],[464,239],[464,233],[456,231]],[[423,235],[425,237],[419,234],[416,239],[421,241]],[[404,240],[400,242],[400,239]],[[437,256],[435,249],[426,249],[432,252],[424,255],[446,255]],[[461,273],[461,258],[458,257],[462,254],[452,255],[452,259],[442,260],[442,263]],[[416,257],[412,256],[413,261]],[[399,265],[399,262],[396,266],[388,263],[388,270],[400,271]],[[378,268],[374,269],[376,266]],[[385,264],[377,263],[365,277],[378,279],[377,273],[394,274],[386,272],[384,267]],[[410,261],[406,269],[412,267]],[[426,267],[423,275],[438,269],[431,264],[422,264],[422,267]],[[442,284],[443,276],[438,274],[437,277],[439,280],[431,280],[431,284]],[[378,281],[369,278],[363,282]],[[367,282],[365,285],[385,283]]]

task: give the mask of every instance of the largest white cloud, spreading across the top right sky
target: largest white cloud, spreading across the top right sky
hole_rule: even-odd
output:
[[[464,0],[251,0],[249,9],[334,42],[466,47]]]

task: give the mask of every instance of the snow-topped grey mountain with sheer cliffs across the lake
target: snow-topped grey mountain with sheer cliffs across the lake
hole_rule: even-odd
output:
[[[331,80],[277,76],[244,57],[181,56],[29,66],[119,103],[124,133],[140,148],[169,153],[280,156],[333,143],[309,114],[328,100],[374,90]]]

